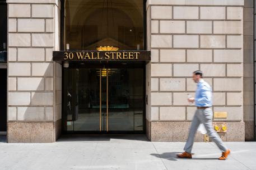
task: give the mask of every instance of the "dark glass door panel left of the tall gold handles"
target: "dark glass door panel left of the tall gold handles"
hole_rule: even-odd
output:
[[[100,130],[99,69],[74,69],[76,77],[76,105],[74,131]]]

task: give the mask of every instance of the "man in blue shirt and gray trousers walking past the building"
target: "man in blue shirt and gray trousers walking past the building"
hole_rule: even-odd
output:
[[[220,148],[220,150],[222,151],[222,156],[218,159],[225,160],[230,154],[230,149],[227,149],[220,136],[215,130],[213,130],[213,113],[212,109],[210,108],[212,106],[212,90],[211,86],[202,79],[202,76],[202,71],[198,70],[193,72],[193,80],[197,83],[197,90],[195,98],[188,98],[188,101],[191,103],[195,103],[195,105],[197,106],[197,110],[189,130],[187,143],[184,147],[185,152],[177,154],[177,157],[192,158],[191,151],[194,143],[194,135],[197,132],[199,124],[202,123],[206,128],[208,136],[213,140],[213,142],[216,143],[218,148]]]

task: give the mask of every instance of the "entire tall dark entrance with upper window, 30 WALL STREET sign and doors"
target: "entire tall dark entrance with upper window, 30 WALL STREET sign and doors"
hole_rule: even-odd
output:
[[[62,1],[64,133],[145,133],[145,4]]]

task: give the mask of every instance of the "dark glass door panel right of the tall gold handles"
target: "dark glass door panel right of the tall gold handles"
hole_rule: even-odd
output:
[[[134,130],[131,69],[110,69],[108,75],[108,130]]]

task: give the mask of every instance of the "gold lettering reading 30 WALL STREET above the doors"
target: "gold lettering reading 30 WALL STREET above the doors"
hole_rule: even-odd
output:
[[[63,60],[139,60],[140,52],[64,52]]]

